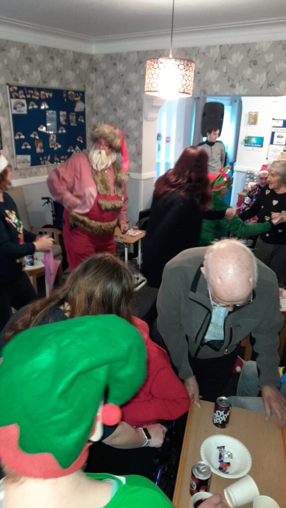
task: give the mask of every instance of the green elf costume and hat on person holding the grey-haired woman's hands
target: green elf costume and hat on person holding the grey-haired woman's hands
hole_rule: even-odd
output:
[[[223,201],[223,196],[227,193],[232,184],[232,179],[228,174],[228,167],[220,168],[218,172],[209,172],[209,181],[212,189],[212,205],[214,210],[226,210],[228,205]],[[225,233],[232,233],[236,237],[247,237],[253,235],[260,235],[271,229],[271,224],[246,224],[241,220],[238,215],[235,215],[231,220],[217,219],[207,220],[203,219],[201,233],[199,234],[198,246],[206,247],[214,240],[220,240]]]

